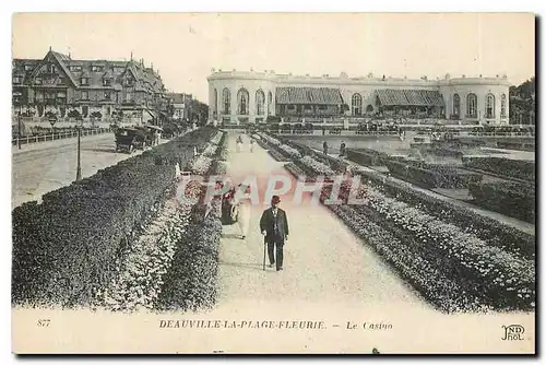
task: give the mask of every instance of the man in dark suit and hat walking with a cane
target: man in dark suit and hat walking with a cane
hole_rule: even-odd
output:
[[[283,270],[283,246],[288,240],[288,220],[286,212],[278,208],[280,203],[278,196],[273,196],[271,208],[264,210],[260,219],[260,231],[265,236],[270,268],[276,263],[276,271]]]

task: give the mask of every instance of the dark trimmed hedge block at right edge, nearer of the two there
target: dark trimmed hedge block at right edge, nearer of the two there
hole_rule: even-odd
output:
[[[535,222],[534,187],[512,181],[472,184],[470,192],[482,207],[522,221]]]

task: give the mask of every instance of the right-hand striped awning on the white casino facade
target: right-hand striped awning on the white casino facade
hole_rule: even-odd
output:
[[[379,89],[376,93],[383,106],[444,106],[441,94],[434,90]]]

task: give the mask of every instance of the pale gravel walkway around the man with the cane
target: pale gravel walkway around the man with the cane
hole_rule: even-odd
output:
[[[288,173],[262,148],[253,153],[235,152],[235,136],[229,137],[228,176],[237,182],[246,174],[257,174],[261,184],[270,174]],[[261,184],[260,184],[261,182]],[[260,199],[262,199],[260,192]],[[284,270],[262,270],[263,237],[259,220],[266,205],[253,205],[246,240],[237,237],[237,225],[224,226],[221,243],[219,308],[246,302],[270,306],[281,302],[341,305],[395,305],[414,309],[430,308],[402,282],[381,259],[358,239],[327,208],[292,203],[284,196],[281,207],[287,212],[289,242],[284,249]]]

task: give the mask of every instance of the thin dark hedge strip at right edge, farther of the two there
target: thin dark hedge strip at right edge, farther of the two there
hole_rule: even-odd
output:
[[[496,175],[535,181],[535,162],[501,157],[466,157],[464,166]]]

